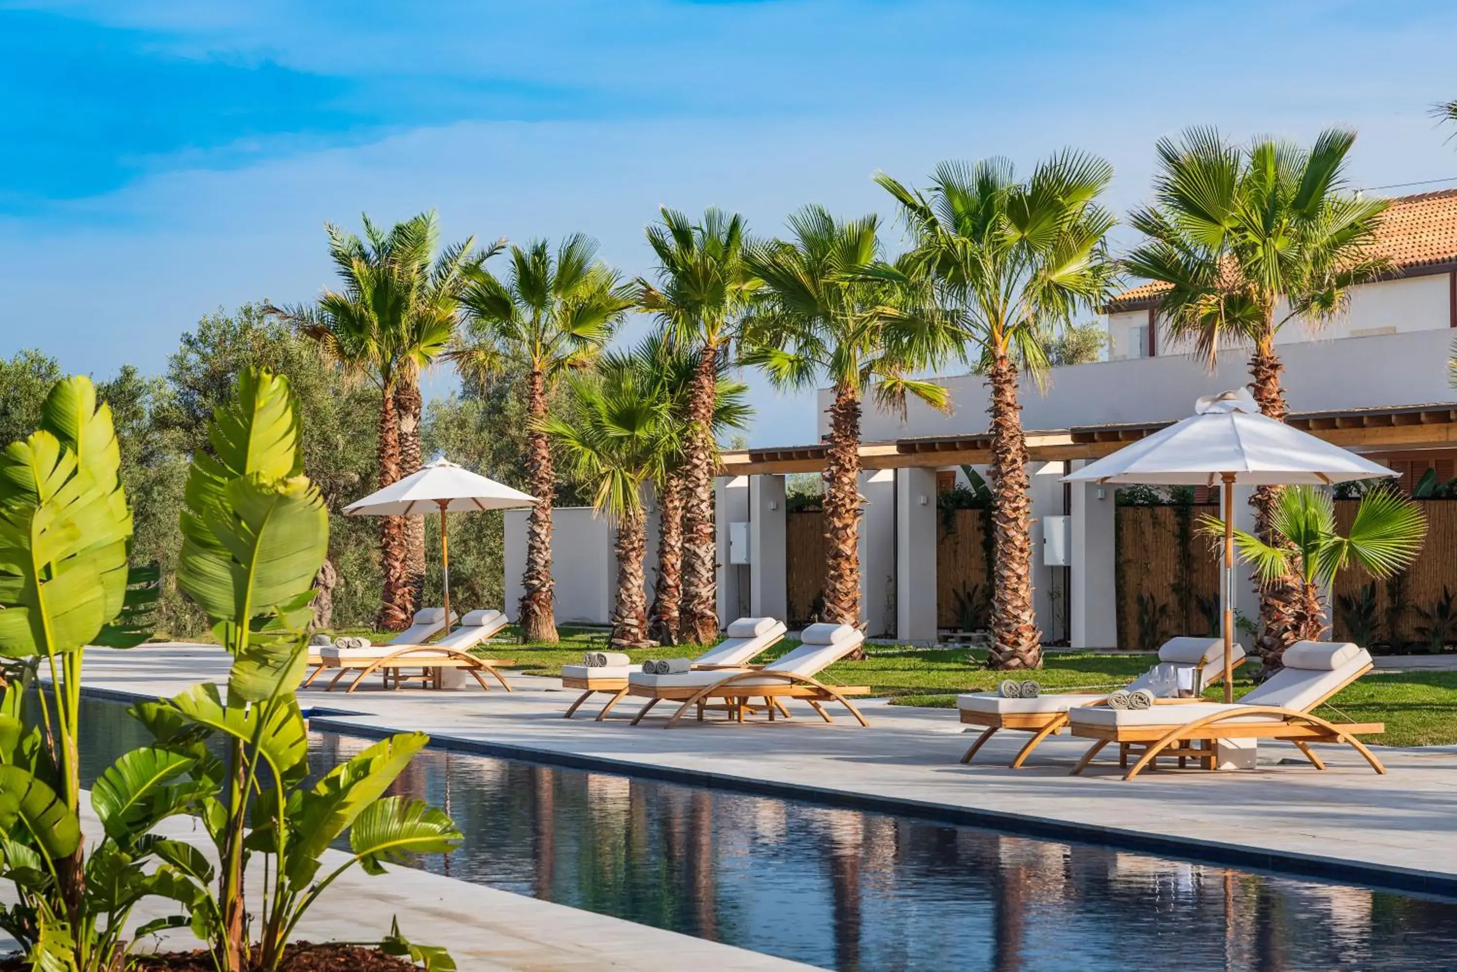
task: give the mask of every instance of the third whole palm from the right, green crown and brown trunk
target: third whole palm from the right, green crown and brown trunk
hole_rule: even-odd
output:
[[[879,220],[836,220],[810,205],[790,220],[790,240],[749,248],[761,283],[745,321],[745,356],[784,389],[833,386],[825,459],[825,616],[860,624],[860,415],[867,393],[903,411],[908,398],[949,409],[944,386],[908,377],[959,345],[959,332],[924,312],[905,273],[883,261]]]

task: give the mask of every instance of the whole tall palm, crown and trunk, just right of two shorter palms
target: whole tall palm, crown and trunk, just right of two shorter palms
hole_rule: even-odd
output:
[[[708,644],[718,637],[717,541],[714,536],[712,434],[718,358],[734,338],[753,291],[745,268],[743,220],[708,210],[694,224],[683,213],[660,210],[647,229],[657,255],[657,281],[637,280],[638,309],[657,315],[664,334],[698,351],[698,372],[688,395],[683,442],[683,599],[680,634]]]

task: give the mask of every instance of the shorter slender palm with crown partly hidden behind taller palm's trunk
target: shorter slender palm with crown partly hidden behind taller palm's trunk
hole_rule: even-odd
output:
[[[659,334],[643,341],[632,361],[643,369],[644,386],[653,396],[667,402],[672,417],[669,456],[654,477],[657,494],[657,580],[648,605],[648,634],[661,644],[679,641],[682,605],[682,544],[683,544],[683,477],[685,442],[688,430],[688,399],[698,376],[698,351]],[[747,426],[753,409],[745,401],[747,386],[734,380],[733,364],[718,356],[714,377],[714,414],[710,423],[714,442],[730,428]]]

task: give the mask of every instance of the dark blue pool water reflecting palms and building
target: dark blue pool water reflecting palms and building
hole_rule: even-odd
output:
[[[146,734],[89,699],[87,778]],[[310,733],[323,772],[369,739]],[[1457,902],[430,749],[425,870],[828,969],[1457,968]]]

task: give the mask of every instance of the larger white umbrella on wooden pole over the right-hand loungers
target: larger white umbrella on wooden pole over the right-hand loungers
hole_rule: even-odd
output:
[[[1249,389],[1206,395],[1195,414],[1062,477],[1064,482],[1220,485],[1224,501],[1224,701],[1234,701],[1236,485],[1330,485],[1394,477],[1354,452],[1266,418]]]

